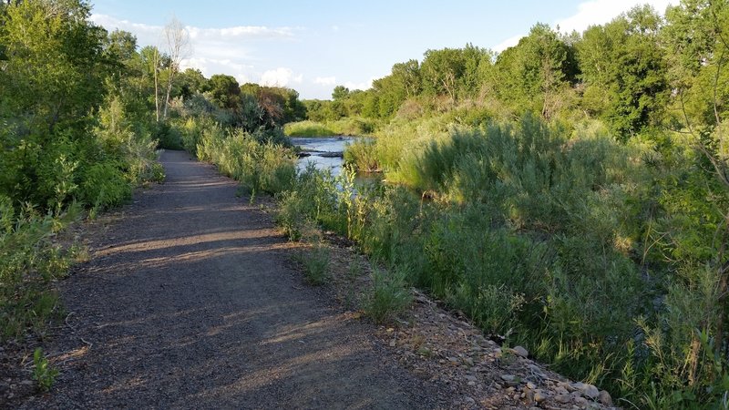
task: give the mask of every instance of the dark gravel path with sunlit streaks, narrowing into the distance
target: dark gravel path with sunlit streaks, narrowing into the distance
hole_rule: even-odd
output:
[[[269,216],[237,184],[167,151],[62,283],[62,374],[25,408],[433,408],[372,328],[303,284]]]

